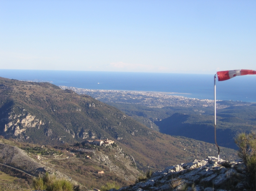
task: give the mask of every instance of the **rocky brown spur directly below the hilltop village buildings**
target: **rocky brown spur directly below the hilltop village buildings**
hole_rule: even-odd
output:
[[[99,151],[100,150],[100,151]],[[97,150],[79,151],[72,150],[74,156],[45,157],[41,162],[45,165],[63,172],[74,180],[85,185],[87,188],[98,188],[107,182],[115,181],[120,186],[133,184],[140,174],[136,164],[122,148],[101,148]],[[90,156],[87,158],[85,156]],[[104,171],[97,174],[96,171]]]

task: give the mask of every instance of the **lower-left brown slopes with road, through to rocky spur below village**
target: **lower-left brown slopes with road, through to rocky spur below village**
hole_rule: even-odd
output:
[[[68,146],[68,150],[59,153],[54,148],[0,138],[0,167],[7,174],[18,171],[28,176],[38,176],[48,171],[87,188],[100,188],[111,181],[127,186],[133,184],[140,174],[133,157],[125,154],[119,146],[99,146],[95,150],[76,148]],[[91,158],[86,158],[87,155]],[[95,171],[104,173],[97,174]],[[16,177],[21,178],[19,174]]]

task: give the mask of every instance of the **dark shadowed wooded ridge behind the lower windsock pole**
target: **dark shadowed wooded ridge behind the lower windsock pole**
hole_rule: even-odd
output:
[[[230,106],[217,110],[218,145],[237,149],[234,138],[241,132],[256,130],[255,104]],[[154,122],[161,133],[179,135],[196,140],[214,143],[213,113],[203,115],[174,113],[168,118]]]

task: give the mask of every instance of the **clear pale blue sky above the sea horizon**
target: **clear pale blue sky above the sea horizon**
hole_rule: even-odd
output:
[[[256,70],[256,1],[0,0],[0,69]]]

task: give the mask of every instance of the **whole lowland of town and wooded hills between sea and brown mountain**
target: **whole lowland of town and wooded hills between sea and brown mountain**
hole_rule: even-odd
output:
[[[213,100],[168,93],[68,88],[112,105],[155,131],[215,144]],[[237,134],[256,130],[256,104],[218,100],[216,107],[218,145],[237,149]]]

